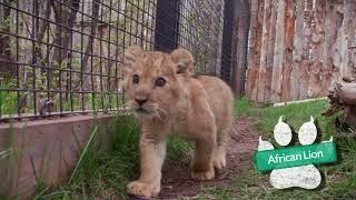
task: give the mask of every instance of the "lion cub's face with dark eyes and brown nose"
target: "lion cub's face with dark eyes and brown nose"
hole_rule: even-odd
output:
[[[179,100],[181,76],[172,53],[144,52],[131,47],[125,52],[126,92],[132,110],[142,118],[164,118]]]

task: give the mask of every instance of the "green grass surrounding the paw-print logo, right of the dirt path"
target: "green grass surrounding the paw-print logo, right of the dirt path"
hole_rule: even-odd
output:
[[[250,107],[246,98],[236,102],[237,116],[258,119],[256,129],[265,140],[274,142],[273,130],[279,116],[285,116],[285,121],[293,128],[294,138],[299,127],[309,120],[316,119],[320,140],[328,140],[334,136],[336,141],[339,163],[318,167],[324,176],[324,183],[317,190],[298,188],[276,190],[269,184],[269,173],[261,174],[250,169],[241,174],[236,174],[228,186],[205,189],[198,198],[207,199],[355,199],[356,198],[356,139],[355,133],[339,131],[335,127],[334,118],[325,118],[320,112],[328,107],[328,101],[307,102],[286,107]],[[318,141],[318,142],[319,142]],[[296,142],[297,143],[297,142]]]

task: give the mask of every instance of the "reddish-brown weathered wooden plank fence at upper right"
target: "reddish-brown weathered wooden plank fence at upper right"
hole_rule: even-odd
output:
[[[355,18],[355,0],[253,0],[249,99],[325,97],[333,82],[356,77]]]

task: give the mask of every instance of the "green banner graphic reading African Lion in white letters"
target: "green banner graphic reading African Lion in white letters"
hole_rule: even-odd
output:
[[[291,168],[306,164],[337,162],[335,142],[299,146],[266,151],[257,151],[255,162],[258,171]]]

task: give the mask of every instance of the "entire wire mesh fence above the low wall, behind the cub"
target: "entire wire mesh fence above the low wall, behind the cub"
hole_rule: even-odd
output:
[[[198,73],[220,76],[224,4],[0,0],[0,120],[125,109],[122,54],[131,44],[184,47]]]

